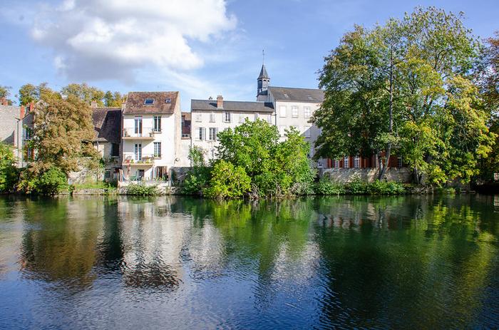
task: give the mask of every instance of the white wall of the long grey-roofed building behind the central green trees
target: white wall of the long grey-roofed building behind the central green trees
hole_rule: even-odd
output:
[[[210,140],[210,128],[217,128],[218,132],[225,130],[226,128],[236,128],[237,126],[244,123],[245,119],[254,121],[257,118],[265,120],[271,124],[275,123],[275,116],[273,113],[261,113],[257,111],[229,111],[231,114],[230,123],[225,122],[225,110],[191,110],[192,121],[191,121],[191,139],[192,145],[196,145],[205,150],[205,160],[211,160],[215,158],[215,147],[218,145],[216,140]],[[210,121],[210,115],[215,115],[215,120]],[[206,135],[205,138],[200,140],[199,128],[205,128]],[[188,150],[187,150],[188,153]]]

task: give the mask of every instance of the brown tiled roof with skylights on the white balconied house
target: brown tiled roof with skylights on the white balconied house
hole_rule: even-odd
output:
[[[171,115],[178,102],[178,92],[130,92],[126,98],[123,115],[165,114]],[[146,98],[153,98],[153,104],[144,104]],[[170,98],[171,103],[165,103]]]

